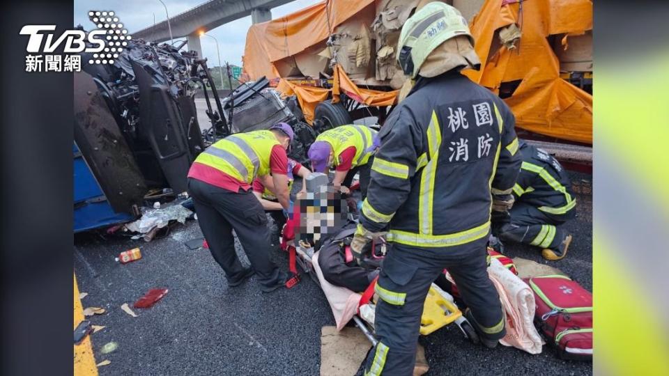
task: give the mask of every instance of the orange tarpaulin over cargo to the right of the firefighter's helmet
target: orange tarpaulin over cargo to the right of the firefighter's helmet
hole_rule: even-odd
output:
[[[498,38],[495,31],[514,23],[521,29],[517,48],[491,50]],[[495,93],[503,82],[521,81],[513,95],[505,99],[516,116],[517,127],[592,143],[592,95],[560,78],[560,61],[546,39],[555,34],[568,38],[591,30],[592,1],[525,0],[521,13],[517,2],[487,0],[470,29],[482,67],[465,74]]]

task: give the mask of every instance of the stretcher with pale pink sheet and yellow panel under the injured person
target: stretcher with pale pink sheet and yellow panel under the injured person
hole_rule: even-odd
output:
[[[372,345],[376,345],[378,340],[374,334],[373,322],[375,303],[374,299],[371,299],[370,294],[370,292],[373,293],[376,280],[370,285],[370,288],[362,294],[360,292],[353,292],[341,286],[334,286],[323,278],[323,274],[318,265],[318,251],[310,246],[293,244],[292,242],[289,242],[287,250],[290,253],[289,258],[291,259],[291,265],[296,265],[296,267],[293,266],[291,269],[296,269],[297,267],[300,269],[300,272],[297,274],[298,277],[296,278],[299,279],[299,276],[305,276],[306,274],[321,288],[321,290],[323,290],[325,297],[328,299],[328,303],[330,303],[330,308],[332,308],[332,313],[337,321],[338,329],[344,327],[349,320],[353,320],[355,326],[362,331]],[[369,297],[365,297],[365,295],[369,295]],[[364,307],[366,305],[367,307]],[[341,308],[342,306],[344,307],[343,309]],[[355,313],[351,314],[352,310],[355,310]],[[365,312],[372,313],[371,320],[369,315],[364,315]],[[457,327],[459,327],[462,334],[465,338],[470,340],[470,342],[479,342],[479,337],[474,328],[454,304],[453,297],[433,283],[425,299],[423,315],[420,322],[420,334],[427,336],[434,331],[445,327],[447,324],[452,323],[455,323]]]

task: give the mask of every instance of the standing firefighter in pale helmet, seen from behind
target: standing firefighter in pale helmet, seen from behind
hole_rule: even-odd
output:
[[[378,345],[368,375],[412,375],[423,304],[448,268],[484,345],[505,335],[505,315],[486,272],[491,208],[507,210],[518,169],[509,107],[461,75],[479,68],[474,40],[458,10],[426,4],[403,25],[399,65],[415,84],[379,132],[351,248],[386,235],[376,294]]]

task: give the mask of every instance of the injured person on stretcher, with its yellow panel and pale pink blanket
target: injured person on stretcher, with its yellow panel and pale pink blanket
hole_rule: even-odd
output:
[[[298,196],[293,217],[282,231],[282,249],[289,252],[289,265],[294,274],[293,283],[288,287],[298,283],[300,275],[311,276],[330,304],[337,329],[343,329],[353,320],[355,326],[376,345],[376,277],[383,269],[383,257],[392,252],[392,243],[383,239],[375,241],[364,250],[363,262],[358,265],[348,251],[357,226],[357,205],[351,200],[341,200],[337,194],[328,196],[332,194],[332,189],[325,187],[328,180],[323,174],[312,173],[305,183],[307,193],[311,193],[312,197],[302,201]],[[340,206],[330,208],[330,205]],[[305,233],[309,221],[324,224],[323,215],[332,212],[341,214],[344,223],[334,227],[323,225],[318,230],[314,227],[317,233]],[[537,354],[541,352],[543,343],[532,323],[534,295],[528,285],[518,278],[515,269],[509,267],[509,260],[495,253],[490,254],[488,273],[506,312],[507,335],[500,343]],[[446,281],[447,276],[445,271],[441,279]],[[457,294],[454,285],[447,286],[447,290]],[[438,283],[432,283],[424,302],[420,334],[429,335],[454,322],[468,340],[478,343],[475,329],[449,292],[440,288]]]

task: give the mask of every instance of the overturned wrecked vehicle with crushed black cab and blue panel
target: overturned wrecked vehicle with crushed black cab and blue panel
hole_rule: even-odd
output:
[[[305,162],[316,134],[293,116],[294,99],[284,102],[259,79],[221,100],[206,59],[184,45],[128,40],[113,64],[86,63],[94,56],[82,54],[74,79],[75,232],[137,217],[152,192],[185,191],[195,157],[228,134],[285,121],[298,134],[291,157]],[[197,91],[210,120],[203,131]]]

